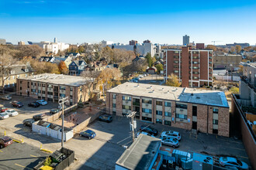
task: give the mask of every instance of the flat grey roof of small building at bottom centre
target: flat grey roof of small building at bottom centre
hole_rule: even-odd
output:
[[[130,148],[123,152],[116,165],[127,169],[149,169],[160,146],[161,139],[140,134]]]

